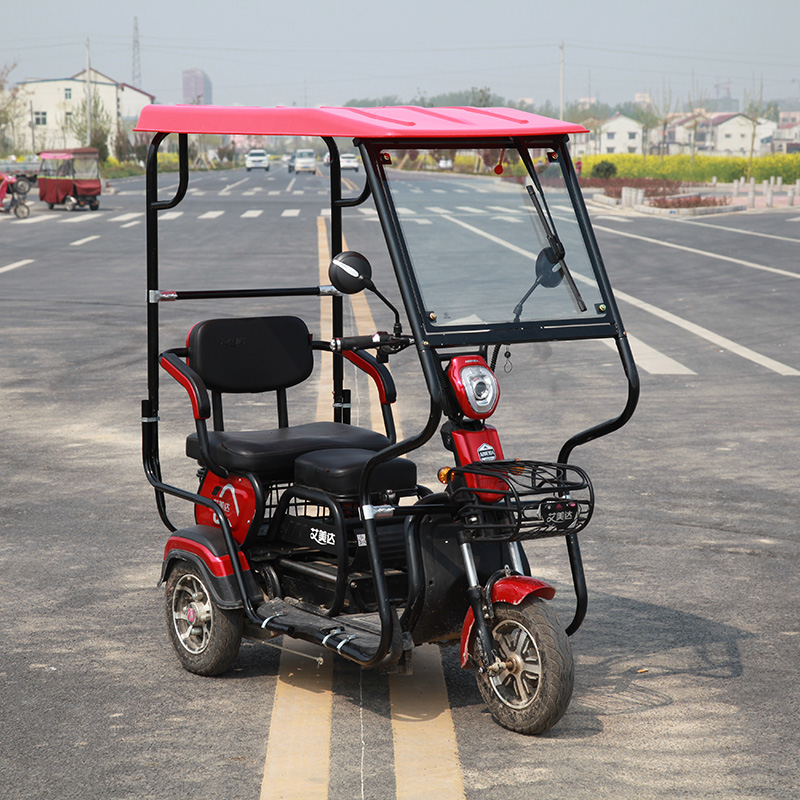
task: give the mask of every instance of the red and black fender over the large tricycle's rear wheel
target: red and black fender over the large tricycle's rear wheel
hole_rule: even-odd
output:
[[[261,590],[244,553],[239,552],[247,594],[253,601],[260,602]],[[197,568],[205,579],[212,599],[220,608],[242,608],[242,596],[236,584],[228,549],[222,531],[207,525],[194,525],[175,531],[164,547],[164,560],[161,564],[159,585],[165,582],[176,564],[188,562]]]

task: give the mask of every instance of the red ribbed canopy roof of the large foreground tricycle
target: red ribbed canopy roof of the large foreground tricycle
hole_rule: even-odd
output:
[[[586,128],[515,108],[247,108],[158,106],[142,109],[137,131],[250,136],[360,136],[367,139],[547,136]]]

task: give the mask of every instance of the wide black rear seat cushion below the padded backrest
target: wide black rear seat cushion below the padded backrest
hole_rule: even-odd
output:
[[[209,431],[211,454],[233,472],[255,472],[269,480],[292,480],[294,462],[311,451],[332,448],[382,450],[389,440],[381,433],[341,422],[309,422],[266,431]],[[186,455],[202,461],[197,434],[186,439]]]

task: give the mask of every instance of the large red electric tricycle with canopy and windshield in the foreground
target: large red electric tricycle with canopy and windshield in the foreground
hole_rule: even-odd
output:
[[[624,425],[639,394],[570,160],[569,136],[584,129],[507,108],[153,105],[137,130],[154,133],[143,456],[170,531],[161,580],[181,664],[216,675],[233,664],[243,636],[283,635],[365,668],[408,672],[415,646],[455,640],[497,722],[526,734],[548,730],[570,701],[568,636],[587,606],[578,533],[594,494],[571,456]],[[180,179],[174,196],[163,198],[157,154],[170,133],[178,134]],[[220,133],[325,142],[330,285],[282,286],[285,278],[268,272],[260,286],[162,284],[158,220],[186,194],[188,135]],[[338,138],[351,141],[364,164],[358,196],[342,196]],[[442,152],[454,171],[437,173]],[[448,191],[457,194],[448,199]],[[343,247],[343,212],[365,204],[380,221],[406,330],[387,298],[394,288],[378,285],[368,259]],[[385,304],[390,330],[345,335],[345,296],[362,291]],[[294,313],[223,311],[242,299],[285,298],[296,309],[303,297],[330,302],[330,330],[312,333]],[[196,301],[220,311],[193,325],[185,341],[162,343],[165,305]],[[309,319],[315,325],[316,313]],[[505,451],[490,424],[500,402],[498,355],[513,348],[519,368],[526,345],[585,339],[616,343],[628,386],[618,416],[570,436],[552,460]],[[407,348],[428,397],[417,429],[398,438],[387,363]],[[330,419],[290,422],[287,390],[312,375],[315,354],[333,360]],[[351,424],[345,362],[374,382],[384,430]],[[162,476],[160,375],[189,396],[194,424],[185,450],[198,468],[189,488]],[[276,398],[274,422],[227,424],[230,403],[265,392]],[[521,406],[517,416],[535,429],[532,408]],[[437,434],[450,464],[434,491],[418,482],[414,458]],[[168,497],[194,506],[193,524],[172,522]],[[577,602],[566,627],[548,603],[555,589],[529,564],[533,543],[550,537],[566,542],[571,566]]]

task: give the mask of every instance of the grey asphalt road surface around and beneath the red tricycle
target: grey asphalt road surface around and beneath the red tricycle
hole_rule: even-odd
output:
[[[276,167],[193,174],[190,187],[163,222],[164,288],[318,282],[323,177]],[[457,177],[416,188],[489,229],[480,209],[458,211]],[[115,189],[98,212],[34,203],[26,221],[0,217],[0,797],[275,797],[264,775],[280,653],[246,644],[231,673],[202,679],[167,640],[156,588],[166,537],[140,458],[143,181]],[[575,694],[548,734],[510,733],[444,649],[463,786],[452,796],[798,796],[800,209],[592,214],[643,388],[627,427],[573,457],[598,496],[581,534],[590,605],[572,639]],[[374,215],[349,210],[344,229],[396,299]],[[387,328],[388,312],[369,304]],[[314,328],[319,301],[289,307]],[[180,344],[204,316],[278,308],[175,304],[163,316]],[[495,417],[506,455],[552,459],[624,402],[603,343],[515,347],[510,361]],[[392,369],[408,432],[425,408],[415,357]],[[316,389],[297,402],[302,416]],[[358,420],[360,388],[356,404]],[[185,406],[165,397],[162,436],[165,471],[188,480]],[[436,441],[419,454],[423,482],[446,455]],[[527,550],[568,619],[563,546]],[[327,796],[414,796],[402,789],[394,687],[345,662],[330,680],[330,737],[312,752]],[[272,769],[296,772],[284,758]]]

